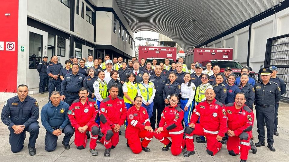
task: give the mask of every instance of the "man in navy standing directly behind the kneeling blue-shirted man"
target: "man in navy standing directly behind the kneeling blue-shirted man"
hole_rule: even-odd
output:
[[[49,96],[48,100],[50,101],[50,94],[52,91],[60,91],[61,90],[61,79],[59,78],[60,70],[63,68],[62,64],[58,63],[57,56],[52,57],[52,61],[48,64],[46,73],[48,74],[49,79]]]

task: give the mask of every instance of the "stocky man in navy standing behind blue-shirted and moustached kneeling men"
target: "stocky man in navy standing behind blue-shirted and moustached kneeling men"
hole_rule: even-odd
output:
[[[61,100],[69,105],[76,99],[79,99],[78,91],[83,87],[84,75],[78,72],[78,64],[72,65],[72,72],[64,76],[64,79],[61,83]]]

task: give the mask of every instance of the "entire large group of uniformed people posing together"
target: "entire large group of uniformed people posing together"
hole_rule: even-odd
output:
[[[207,143],[208,154],[215,155],[222,144],[227,144],[230,155],[241,153],[241,161],[246,161],[250,149],[256,153],[255,146],[265,146],[266,123],[268,147],[275,151],[278,101],[286,89],[276,76],[275,66],[260,69],[261,81],[255,82],[248,75],[248,67],[243,67],[236,78],[230,67],[220,73],[220,67],[210,63],[204,71],[200,63],[192,63],[188,70],[182,58],[171,65],[168,58],[164,63],[153,60],[146,64],[144,58],[141,63],[135,58],[132,67],[127,67],[122,57],[111,61],[106,55],[104,63],[100,60],[90,55],[87,62],[81,59],[78,63],[73,58],[73,63],[67,60],[63,68],[53,56],[52,62],[46,63],[50,102],[41,111],[47,130],[45,150],[56,149],[62,133],[62,144],[70,149],[69,141],[75,133],[77,149],[84,149],[91,137],[91,154],[98,155],[95,148],[99,140],[106,148],[104,156],[109,157],[110,149],[119,142],[120,127],[125,125],[127,146],[136,154],[150,152],[148,144],[155,137],[164,144],[163,151],[171,147],[172,155],[179,155],[186,148],[183,156],[188,157],[195,153],[193,135],[199,135],[196,142]],[[1,118],[10,130],[12,152],[23,148],[25,131],[29,131],[29,153],[35,155],[38,104],[27,95],[26,85],[19,85],[17,93],[5,104]],[[253,103],[259,134],[255,146]]]

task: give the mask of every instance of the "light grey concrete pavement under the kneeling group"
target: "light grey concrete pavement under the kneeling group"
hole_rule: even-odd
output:
[[[48,102],[48,93],[45,94],[34,94],[30,95],[38,101],[39,109]],[[0,102],[0,110],[2,112],[2,108],[5,102]],[[288,103],[280,103],[279,106],[279,124],[278,124],[278,132],[279,136],[274,136],[274,147],[276,152],[271,152],[269,148],[266,146],[262,146],[257,148],[258,151],[256,154],[252,154],[252,151],[249,151],[248,161],[288,161],[289,160],[289,104]],[[254,113],[256,114],[255,110]],[[163,152],[161,149],[163,144],[160,143],[155,138],[152,139],[151,143],[148,145],[148,148],[151,149],[151,152],[141,152],[138,155],[135,155],[131,152],[131,150],[126,147],[126,138],[124,137],[124,127],[121,127],[121,131],[123,132],[120,135],[120,142],[115,149],[111,149],[111,155],[109,158],[104,157],[104,146],[101,143],[97,143],[98,156],[93,157],[89,153],[89,145],[83,150],[77,150],[74,145],[74,136],[70,141],[70,150],[65,150],[63,145],[61,144],[64,135],[59,137],[57,141],[57,149],[53,152],[45,151],[44,147],[44,139],[45,139],[45,128],[41,124],[40,117],[38,119],[40,126],[40,133],[38,139],[36,141],[36,150],[37,153],[35,156],[30,156],[28,153],[28,140],[29,133],[26,133],[26,140],[24,142],[24,148],[21,152],[12,153],[10,144],[9,144],[9,131],[8,127],[0,121],[0,161],[23,161],[23,162],[31,162],[31,161],[204,161],[204,162],[215,162],[215,161],[240,161],[240,155],[231,156],[228,154],[226,149],[226,145],[222,146],[220,152],[215,156],[210,156],[206,152],[206,144],[194,143],[195,144],[195,155],[191,155],[188,158],[182,156],[182,153],[178,156],[173,156],[170,152]],[[256,126],[256,119],[253,127],[253,135],[256,138],[254,143],[258,142],[258,133]],[[90,140],[88,140],[88,143]]]

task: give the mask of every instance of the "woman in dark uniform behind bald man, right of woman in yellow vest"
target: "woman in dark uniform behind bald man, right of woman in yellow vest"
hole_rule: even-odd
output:
[[[218,73],[216,75],[216,82],[213,83],[212,86],[216,94],[215,96],[216,100],[225,105],[225,100],[227,98],[228,91],[226,86],[223,84],[224,78],[225,77],[223,73]]]

